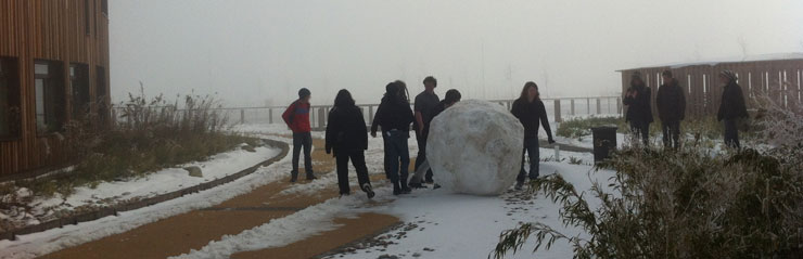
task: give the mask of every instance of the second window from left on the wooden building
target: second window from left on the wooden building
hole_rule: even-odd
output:
[[[52,133],[64,124],[64,77],[62,65],[54,61],[37,60],[34,64],[36,93],[36,131]]]

